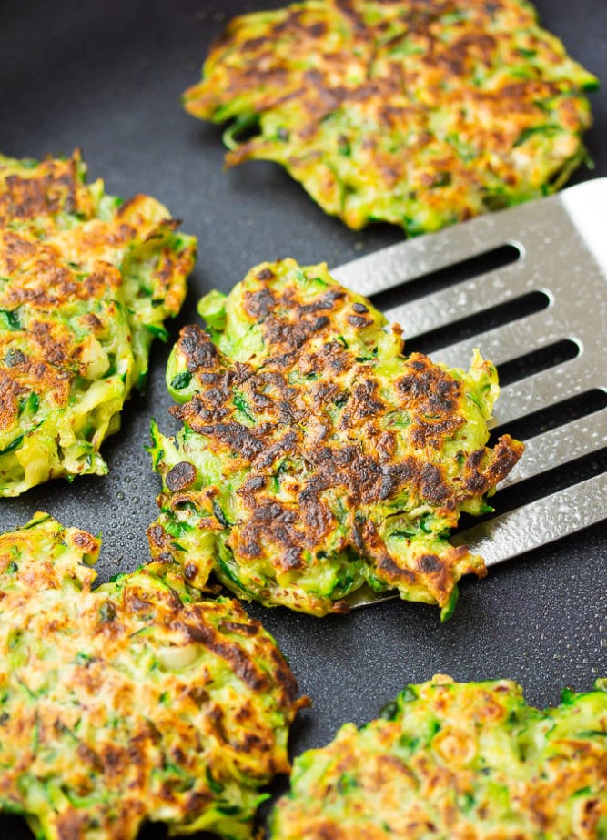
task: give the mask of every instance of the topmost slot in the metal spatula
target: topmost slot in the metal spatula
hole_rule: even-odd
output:
[[[410,300],[424,298],[432,292],[442,288],[449,288],[463,280],[480,277],[498,268],[504,268],[521,258],[521,250],[515,245],[501,245],[484,251],[475,257],[462,259],[445,268],[421,274],[419,277],[402,280],[399,285],[370,295],[374,306],[378,309],[392,309]]]

